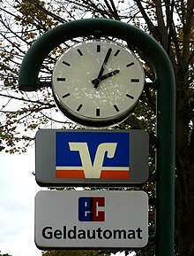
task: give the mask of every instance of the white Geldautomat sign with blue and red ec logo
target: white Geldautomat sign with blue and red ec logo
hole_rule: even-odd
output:
[[[140,248],[147,240],[144,191],[43,190],[36,195],[35,244],[40,249]]]

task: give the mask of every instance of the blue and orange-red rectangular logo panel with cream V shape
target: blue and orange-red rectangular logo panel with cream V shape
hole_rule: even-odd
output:
[[[56,178],[129,179],[129,133],[56,132]]]

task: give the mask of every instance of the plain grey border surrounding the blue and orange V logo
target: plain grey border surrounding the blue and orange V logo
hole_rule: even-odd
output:
[[[130,177],[129,180],[115,179],[57,179],[56,178],[56,132],[75,133],[129,133],[130,134]],[[148,179],[149,136],[144,130],[62,130],[41,129],[35,136],[35,178],[44,186],[128,186],[144,183]]]

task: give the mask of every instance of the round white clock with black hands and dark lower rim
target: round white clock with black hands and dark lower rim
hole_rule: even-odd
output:
[[[89,127],[125,120],[145,82],[138,59],[122,45],[93,40],[78,43],[56,61],[53,94],[60,110]]]

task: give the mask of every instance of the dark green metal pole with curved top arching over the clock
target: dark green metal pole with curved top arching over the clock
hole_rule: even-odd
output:
[[[175,244],[175,77],[165,50],[138,27],[112,19],[80,19],[55,27],[42,35],[26,52],[19,89],[41,87],[38,74],[48,53],[78,36],[109,35],[136,45],[143,51],[159,82],[157,91],[156,151],[156,256],[173,256]]]

